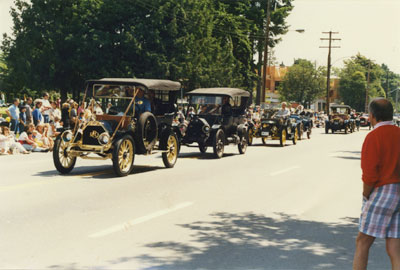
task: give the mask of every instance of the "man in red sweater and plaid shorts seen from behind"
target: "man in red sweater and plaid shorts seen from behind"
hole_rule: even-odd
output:
[[[363,206],[353,269],[365,270],[376,237],[386,239],[392,269],[400,270],[400,128],[393,125],[393,106],[378,99],[369,106],[374,127],[361,152]]]

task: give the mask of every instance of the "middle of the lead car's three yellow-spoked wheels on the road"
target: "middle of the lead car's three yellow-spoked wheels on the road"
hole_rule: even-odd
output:
[[[118,176],[127,176],[133,170],[135,159],[135,144],[131,136],[119,139],[113,149],[112,161],[114,171]]]

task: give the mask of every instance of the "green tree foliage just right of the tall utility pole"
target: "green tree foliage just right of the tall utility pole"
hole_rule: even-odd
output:
[[[368,71],[368,99],[386,96],[381,86],[381,77],[384,72],[379,65],[360,54],[344,61],[344,63],[345,67],[340,72],[339,95],[345,104],[357,111],[365,110]]]

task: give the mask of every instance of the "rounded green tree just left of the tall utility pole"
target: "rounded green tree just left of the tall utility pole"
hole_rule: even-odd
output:
[[[278,91],[286,101],[311,105],[324,94],[324,69],[305,59],[297,59],[283,78]]]

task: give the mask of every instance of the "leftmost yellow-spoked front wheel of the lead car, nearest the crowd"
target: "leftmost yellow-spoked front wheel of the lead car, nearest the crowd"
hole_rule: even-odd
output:
[[[68,143],[61,137],[54,142],[53,161],[57,171],[67,174],[72,171],[75,166],[76,157],[71,156],[67,151]]]

